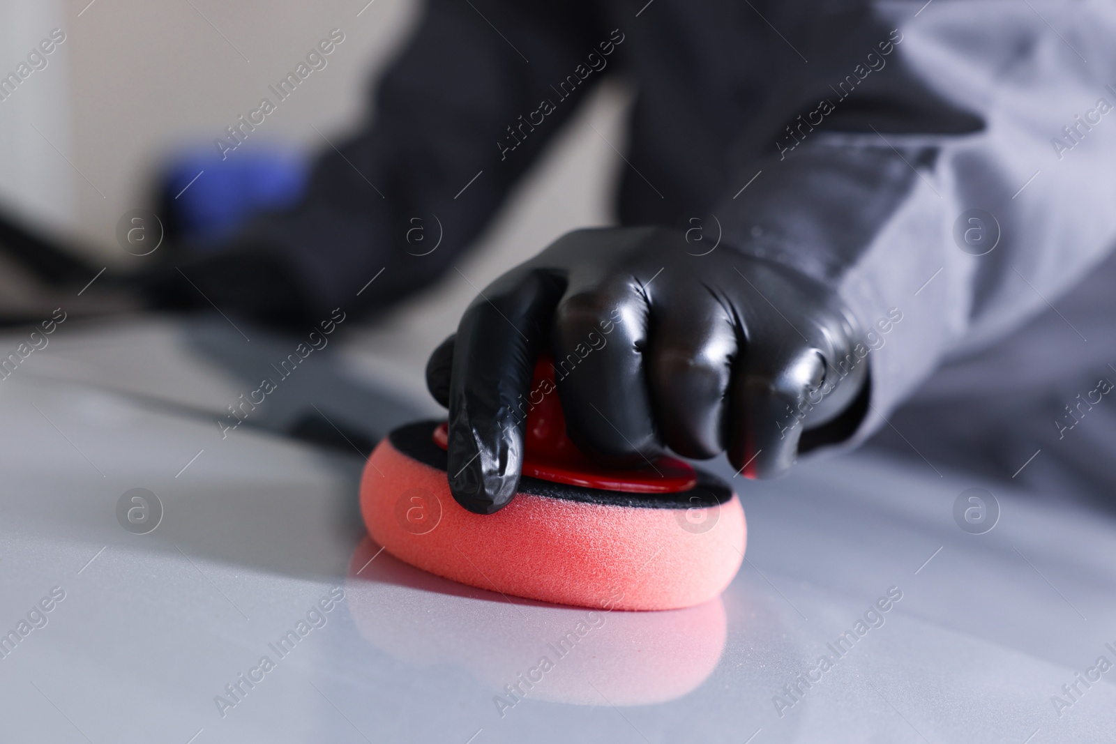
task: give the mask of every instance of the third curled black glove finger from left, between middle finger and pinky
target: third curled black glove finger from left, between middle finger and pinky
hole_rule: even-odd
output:
[[[667,290],[655,310],[646,356],[655,421],[684,457],[708,458],[728,445],[727,397],[737,356],[728,303],[704,291]],[[656,307],[660,303],[656,302]]]

